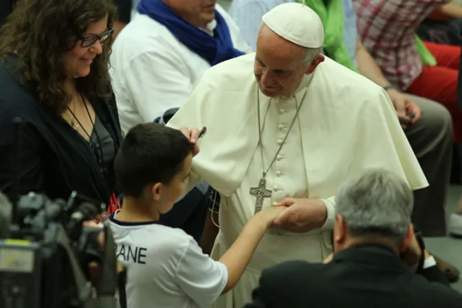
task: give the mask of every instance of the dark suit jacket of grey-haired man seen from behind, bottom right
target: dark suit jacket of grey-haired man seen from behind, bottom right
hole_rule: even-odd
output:
[[[462,294],[436,266],[423,274],[410,272],[387,248],[364,245],[338,252],[326,265],[291,261],[264,270],[245,308],[462,307]]]

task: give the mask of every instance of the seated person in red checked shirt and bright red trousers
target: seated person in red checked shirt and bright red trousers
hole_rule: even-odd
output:
[[[462,18],[462,8],[450,0],[353,1],[362,44],[391,86],[443,104],[452,115],[454,142],[462,144],[456,100],[461,47],[421,42],[415,36],[424,19]],[[462,199],[459,204],[459,213],[450,217],[450,232],[462,236]]]

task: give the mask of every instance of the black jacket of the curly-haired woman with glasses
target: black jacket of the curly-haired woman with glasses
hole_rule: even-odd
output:
[[[115,189],[113,168],[103,175],[88,142],[61,117],[46,112],[30,85],[19,83],[21,75],[10,56],[0,63],[0,190],[11,197],[12,119],[22,119],[20,137],[21,194],[45,193],[51,199],[67,199],[72,190],[109,203]],[[112,96],[113,97],[113,96]],[[102,124],[120,147],[122,140],[115,100],[89,98]]]

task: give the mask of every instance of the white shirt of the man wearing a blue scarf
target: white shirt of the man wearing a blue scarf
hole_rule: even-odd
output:
[[[216,8],[230,29],[234,47],[250,52],[228,13],[218,4]],[[215,21],[209,23],[210,34],[215,26]],[[122,132],[181,107],[192,85],[209,67],[164,25],[136,14],[115,39],[109,69]]]

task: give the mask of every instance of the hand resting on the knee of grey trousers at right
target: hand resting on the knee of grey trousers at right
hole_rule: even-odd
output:
[[[410,96],[402,94],[397,89],[389,89],[387,91],[390,96],[393,106],[395,106],[398,115],[399,123],[403,129],[407,129],[409,125],[417,123],[421,118],[421,110]],[[414,115],[409,117],[409,115]]]

